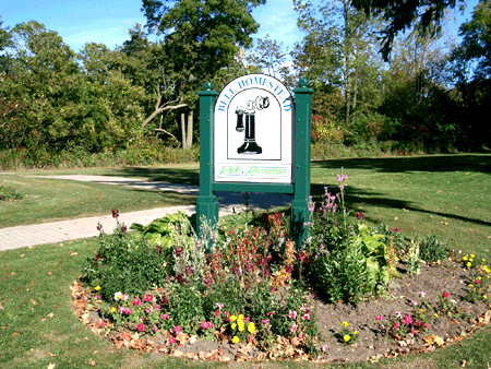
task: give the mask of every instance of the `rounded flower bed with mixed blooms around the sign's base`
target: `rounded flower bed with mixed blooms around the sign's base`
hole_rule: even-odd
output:
[[[376,360],[487,324],[486,260],[370,227],[362,213],[354,222],[346,179],[319,207],[310,199],[299,247],[283,213],[223,223],[202,239],[183,214],[101,233],[71,287],[75,313],[118,348],[221,361]]]

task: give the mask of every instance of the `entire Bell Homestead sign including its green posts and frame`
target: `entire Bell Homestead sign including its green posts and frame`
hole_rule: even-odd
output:
[[[308,87],[307,80],[300,80],[294,93],[295,104],[291,104],[292,98],[286,87],[262,74],[237,79],[220,95],[213,91],[209,82],[204,84],[204,91],[197,93],[200,195],[196,201],[196,227],[200,235],[203,222],[211,226],[218,222],[215,191],[238,191],[294,194],[291,226],[295,241],[300,245],[307,238],[304,223],[309,216],[307,203],[310,194],[310,116],[313,90]],[[227,120],[225,123],[219,122],[224,133],[216,129],[217,115],[220,115],[219,119]],[[233,129],[231,117],[237,119],[237,127],[233,120]],[[263,122],[256,122],[260,119]],[[284,126],[283,120],[287,122]],[[261,136],[261,131],[271,130],[272,127],[273,133],[267,131]],[[278,138],[274,136],[275,132]],[[242,145],[237,145],[235,140],[239,140],[237,142]],[[270,142],[275,144],[268,146]],[[217,147],[220,148],[219,153],[215,153]]]

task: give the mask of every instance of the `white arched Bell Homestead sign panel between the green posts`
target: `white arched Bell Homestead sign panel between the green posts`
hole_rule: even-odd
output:
[[[215,106],[215,181],[291,183],[294,102],[276,79],[230,82]]]

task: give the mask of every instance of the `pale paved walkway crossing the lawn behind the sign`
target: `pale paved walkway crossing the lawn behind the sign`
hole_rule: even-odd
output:
[[[34,177],[34,176],[33,176]],[[105,184],[119,184],[144,188],[157,191],[175,191],[181,193],[197,194],[197,187],[189,184],[176,184],[166,182],[153,182],[141,178],[105,177],[105,176],[35,176],[37,178],[57,178],[64,180],[94,181]],[[217,192],[220,203],[219,215],[224,216],[244,210],[243,197],[239,192]],[[249,209],[268,209],[286,205],[291,202],[290,195],[250,193]],[[166,214],[183,211],[188,215],[195,213],[195,205],[172,207],[159,207],[131,213],[121,213],[119,222],[130,226],[133,223],[146,225]],[[106,234],[116,228],[116,221],[111,214],[105,216],[92,216],[61,222],[50,222],[36,225],[16,226],[0,229],[0,251],[32,247],[44,243],[64,242],[99,235],[97,224],[103,225]]]

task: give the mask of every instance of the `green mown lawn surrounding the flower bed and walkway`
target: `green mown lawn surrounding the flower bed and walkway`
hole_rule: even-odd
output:
[[[348,175],[347,197],[354,212],[363,211],[371,223],[402,227],[403,235],[435,234],[448,246],[489,259],[491,245],[491,155],[434,155],[312,163],[312,193],[316,201],[324,186],[337,190],[340,167]],[[108,168],[52,172],[145,177],[196,184],[197,166]],[[34,174],[34,172],[28,172]],[[40,174],[40,172],[37,172]],[[137,210],[172,201],[192,203],[192,197],[172,199],[156,192],[73,181],[33,180],[22,172],[1,175],[0,186],[26,194],[1,202],[0,227],[52,218],[107,214],[111,207]],[[115,191],[115,192],[112,192]],[[56,195],[60,192],[60,195]],[[77,193],[79,192],[79,193]],[[135,200],[134,198],[141,195]],[[109,199],[110,198],[110,199]],[[146,203],[142,203],[146,201]],[[10,206],[10,207],[9,207]],[[10,212],[10,213],[8,213]],[[25,213],[25,214],[24,214]],[[27,214],[29,213],[29,214]],[[5,216],[5,214],[8,214]],[[12,217],[13,221],[5,219]],[[0,367],[1,368],[180,368],[225,367],[216,362],[185,362],[125,349],[118,350],[77,321],[70,289],[97,239],[45,245],[0,252]],[[76,253],[76,254],[75,254]],[[429,354],[360,362],[348,368],[488,368],[491,366],[491,328],[458,344]],[[335,365],[292,362],[233,364],[238,368],[336,368]]]

